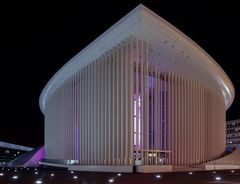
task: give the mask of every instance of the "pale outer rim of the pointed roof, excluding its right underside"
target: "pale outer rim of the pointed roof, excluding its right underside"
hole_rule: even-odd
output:
[[[158,14],[156,14],[155,12],[153,12],[143,4],[139,4],[133,10],[131,10],[129,13],[123,16],[119,21],[113,24],[109,29],[107,29],[100,36],[98,36],[95,40],[93,40],[89,45],[87,45],[79,53],[77,53],[73,58],[71,58],[65,65],[63,65],[53,75],[53,77],[48,81],[48,83],[46,84],[46,86],[44,87],[40,95],[39,105],[40,105],[41,111],[44,113],[45,102],[48,96],[50,96],[64,81],[66,81],[69,77],[74,75],[79,69],[83,68],[90,62],[94,61],[93,58],[96,59],[99,56],[99,54],[105,53],[105,50],[103,49],[103,47],[101,47],[101,52],[98,52],[98,53],[96,52],[96,50],[100,50],[99,49],[100,43],[102,44],[105,43],[105,45],[108,45],[108,43],[112,41],[111,40],[112,38],[115,39],[113,35],[115,35],[116,32],[119,33],[118,27],[121,28],[124,24],[129,23],[129,20],[131,18],[135,18],[135,19],[141,18],[143,16],[142,12],[146,12],[148,15],[151,15],[152,18],[156,19],[159,22],[159,24],[166,27],[166,29],[171,30],[171,32],[175,34],[178,34],[181,38],[181,41],[183,41],[184,43],[194,46],[195,51],[197,51],[198,54],[201,54],[205,58],[205,62],[215,69],[215,73],[219,74],[219,77],[223,78],[220,81],[219,85],[221,85],[222,92],[224,93],[223,95],[225,98],[226,108],[228,108],[233,102],[233,99],[235,96],[235,89],[231,80],[226,75],[224,70],[220,67],[220,65],[204,49],[202,49],[197,43],[195,43],[191,38],[189,38],[179,29],[177,29],[174,25],[164,20],[162,17],[160,17]],[[134,14],[138,14],[138,13],[140,13],[140,16],[138,15],[134,17]],[[115,40],[115,43],[116,43],[116,40]],[[90,53],[91,53],[91,56],[89,56]],[[97,53],[97,54],[94,55],[92,53],[94,54]]]

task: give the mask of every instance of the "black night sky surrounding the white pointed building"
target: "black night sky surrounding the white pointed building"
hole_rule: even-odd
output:
[[[45,84],[69,59],[140,2],[192,38],[225,70],[236,90],[227,120],[240,118],[237,3],[80,2],[84,3],[23,4],[21,1],[1,6],[0,141],[32,147],[43,144],[44,117],[38,100]]]

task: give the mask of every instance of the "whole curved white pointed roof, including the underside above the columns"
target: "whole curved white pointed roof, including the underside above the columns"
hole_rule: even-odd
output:
[[[200,46],[143,5],[137,6],[67,62],[44,87],[39,104],[45,111],[48,97],[69,77],[116,46],[129,35],[148,41],[149,63],[162,72],[175,72],[222,93],[226,109],[235,90],[222,68]]]

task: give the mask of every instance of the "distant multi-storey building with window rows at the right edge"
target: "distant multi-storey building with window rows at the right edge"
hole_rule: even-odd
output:
[[[240,119],[227,121],[227,146],[240,146]]]

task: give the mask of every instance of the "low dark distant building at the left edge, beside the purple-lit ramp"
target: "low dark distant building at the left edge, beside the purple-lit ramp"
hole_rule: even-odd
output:
[[[32,150],[33,148],[30,147],[0,141],[0,166],[4,166],[8,162]]]

